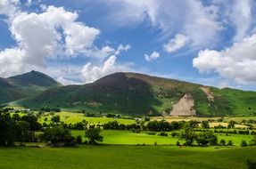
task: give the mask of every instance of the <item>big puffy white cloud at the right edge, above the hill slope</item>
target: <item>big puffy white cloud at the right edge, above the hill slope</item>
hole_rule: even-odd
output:
[[[223,51],[204,50],[193,60],[201,73],[216,72],[239,84],[256,83],[256,34]]]

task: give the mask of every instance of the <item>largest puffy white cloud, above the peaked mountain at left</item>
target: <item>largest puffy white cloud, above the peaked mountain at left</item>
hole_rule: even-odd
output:
[[[4,10],[0,8],[1,12]],[[77,12],[68,12],[62,7],[48,6],[41,13],[19,12],[8,17],[18,45],[0,52],[0,76],[46,67],[46,59],[83,53],[92,48],[100,33],[100,30],[76,21]]]

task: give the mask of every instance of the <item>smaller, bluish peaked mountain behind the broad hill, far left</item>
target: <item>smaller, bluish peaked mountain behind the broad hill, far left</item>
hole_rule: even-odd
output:
[[[0,104],[34,96],[57,86],[62,86],[62,84],[34,70],[19,76],[0,77]]]

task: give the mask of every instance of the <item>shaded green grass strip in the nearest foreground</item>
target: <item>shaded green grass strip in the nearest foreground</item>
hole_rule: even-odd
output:
[[[244,169],[256,148],[178,148],[164,146],[82,146],[73,149],[0,148],[4,169]]]

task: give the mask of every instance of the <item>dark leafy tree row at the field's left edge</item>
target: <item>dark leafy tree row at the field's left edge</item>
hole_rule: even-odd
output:
[[[85,124],[77,125],[76,127],[82,128]],[[36,131],[43,133],[36,135]],[[100,133],[100,128],[90,128],[86,130],[85,136],[89,143],[95,144],[97,141],[103,141]],[[52,146],[75,146],[82,143],[82,137],[72,136],[70,129],[65,125],[44,128],[37,122],[37,117],[31,114],[20,117],[18,114],[11,116],[9,113],[0,112],[0,146],[12,146],[14,142],[36,141],[46,141]]]

